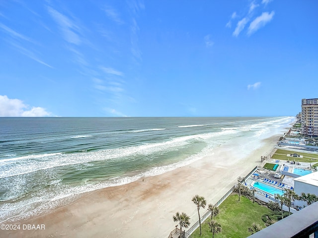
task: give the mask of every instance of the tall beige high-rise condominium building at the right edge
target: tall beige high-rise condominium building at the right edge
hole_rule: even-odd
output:
[[[302,99],[302,134],[318,136],[318,98]]]

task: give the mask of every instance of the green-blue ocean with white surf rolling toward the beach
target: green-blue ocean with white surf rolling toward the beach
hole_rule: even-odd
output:
[[[0,222],[27,219],[84,192],[189,165],[230,140],[261,146],[263,139],[283,134],[293,121],[0,118]]]

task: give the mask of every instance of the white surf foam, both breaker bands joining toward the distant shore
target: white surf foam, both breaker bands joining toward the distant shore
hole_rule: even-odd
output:
[[[16,221],[18,219],[28,218],[30,216],[48,212],[58,207],[62,203],[72,202],[77,194],[83,192],[109,186],[127,184],[143,177],[160,175],[176,168],[189,165],[196,160],[200,160],[206,155],[211,155],[217,146],[220,146],[222,143],[226,143],[231,140],[237,141],[236,143],[238,143],[238,141],[239,143],[252,143],[253,148],[254,146],[261,146],[259,142],[262,138],[269,137],[272,134],[279,132],[293,119],[294,118],[276,118],[269,121],[256,122],[252,125],[246,123],[246,125],[238,125],[231,128],[224,127],[218,132],[181,136],[171,138],[165,142],[148,143],[139,146],[102,150],[98,152],[79,154],[54,153],[2,160],[0,161],[0,178],[14,176],[21,173],[31,173],[32,171],[46,170],[49,168],[65,165],[90,165],[89,162],[93,161],[123,159],[131,155],[137,157],[139,155],[150,155],[152,153],[174,150],[179,146],[189,145],[193,142],[193,140],[204,141],[207,143],[206,147],[197,154],[188,156],[185,159],[180,159],[180,161],[169,165],[149,168],[146,171],[138,172],[134,176],[116,176],[112,179],[99,182],[85,180],[80,185],[66,185],[62,183],[61,179],[53,177],[51,181],[48,181],[49,186],[47,188],[36,191],[31,196],[18,202],[4,203],[0,205],[0,222],[5,220]],[[257,138],[253,138],[253,136]],[[249,153],[247,147],[246,149],[244,147],[241,149],[243,154]],[[12,163],[14,164],[14,167],[11,166]],[[6,166],[11,166],[8,171]],[[19,184],[23,186],[23,181],[21,180]]]

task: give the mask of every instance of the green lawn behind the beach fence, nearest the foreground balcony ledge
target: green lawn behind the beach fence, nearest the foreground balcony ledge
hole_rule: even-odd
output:
[[[270,213],[271,210],[267,207],[258,205],[256,202],[252,203],[248,198],[239,195],[231,194],[219,206],[220,214],[215,218],[222,226],[222,233],[215,234],[214,238],[246,238],[251,234],[248,228],[251,227],[253,222],[258,223],[261,227],[265,228],[262,221],[262,215]],[[203,210],[201,211],[203,214]],[[211,238],[212,233],[207,224],[207,220],[202,224],[202,236],[200,237],[200,228],[197,228],[191,235],[192,238]],[[195,221],[192,221],[193,223]]]

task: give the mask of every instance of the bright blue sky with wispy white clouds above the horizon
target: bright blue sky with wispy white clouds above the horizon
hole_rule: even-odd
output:
[[[317,9],[0,1],[0,116],[295,116],[302,98],[318,98]]]

